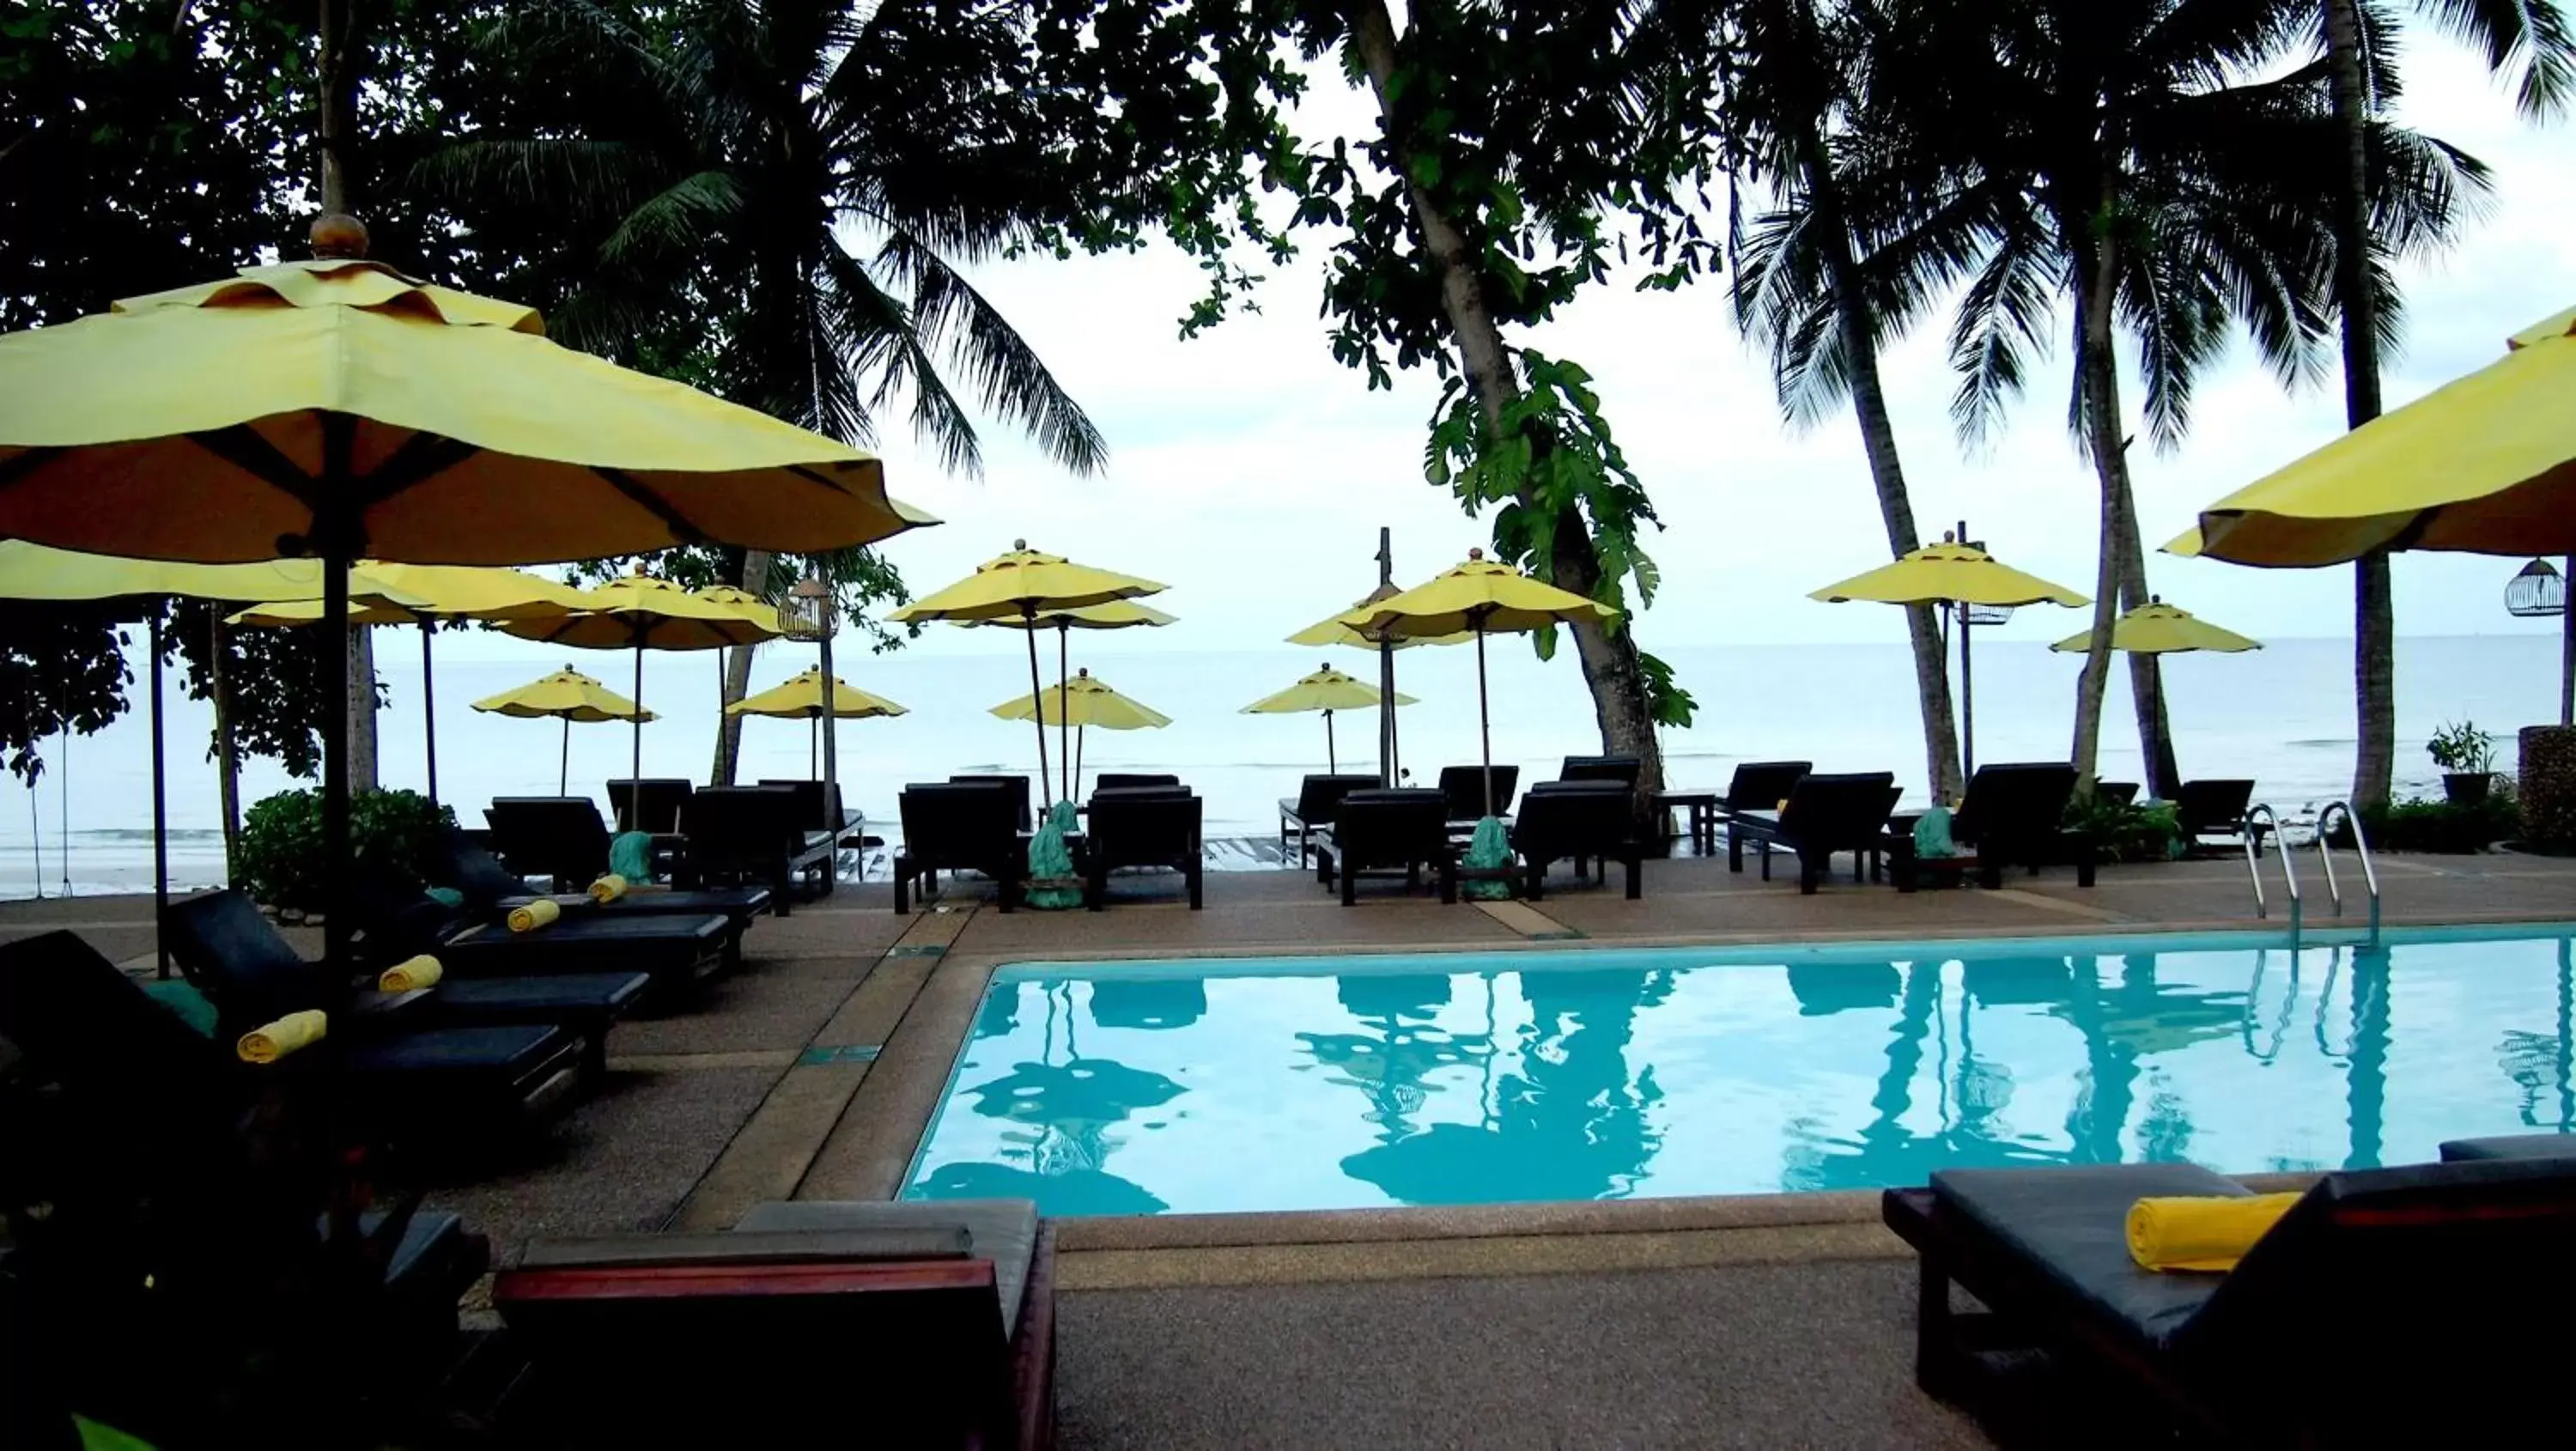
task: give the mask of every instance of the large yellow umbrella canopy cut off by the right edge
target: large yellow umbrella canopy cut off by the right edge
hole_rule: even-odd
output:
[[[2514,340],[2504,358],[2202,508],[2166,549],[2275,567],[2372,549],[2576,552],[2576,335],[2550,320]]]

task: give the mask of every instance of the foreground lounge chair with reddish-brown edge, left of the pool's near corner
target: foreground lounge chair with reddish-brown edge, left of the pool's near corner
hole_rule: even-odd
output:
[[[492,1286],[528,1356],[510,1420],[531,1443],[1046,1451],[1054,1276],[1025,1201],[796,1201],[716,1235],[536,1240]],[[636,1379],[672,1356],[683,1374]]]

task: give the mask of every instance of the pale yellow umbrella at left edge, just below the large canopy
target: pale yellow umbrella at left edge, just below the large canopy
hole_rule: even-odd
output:
[[[348,590],[350,601],[363,608],[422,603],[417,595],[407,595],[384,580],[350,580]],[[113,554],[52,549],[26,539],[0,539],[0,598],[8,601],[157,601],[173,595],[191,601],[319,598],[322,562],[268,559],[260,564],[173,564],[165,559],[118,559]],[[144,611],[144,629],[149,637],[149,665],[144,670],[149,673],[147,698],[152,709],[152,902],[155,907],[165,907],[170,902],[170,781],[162,750],[160,608]],[[64,853],[70,853],[70,840],[64,840]],[[157,941],[157,912],[152,923]],[[160,974],[170,977],[167,951],[160,951]]]

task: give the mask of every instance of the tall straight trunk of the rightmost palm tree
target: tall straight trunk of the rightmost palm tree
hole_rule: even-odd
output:
[[[2336,206],[2334,291],[2344,322],[2344,425],[2380,415],[2380,299],[2370,276],[2370,101],[2362,93],[2362,15],[2354,0],[2326,0],[2326,62],[2334,67],[2334,119],[2344,131]],[[2360,747],[2352,804],[2388,802],[2396,768],[2396,598],[2388,554],[2352,562],[2352,704]]]

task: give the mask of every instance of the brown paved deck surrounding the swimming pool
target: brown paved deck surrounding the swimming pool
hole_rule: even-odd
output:
[[[2347,894],[2357,863],[2342,858]],[[2311,930],[2326,915],[2300,858]],[[2092,936],[2280,928],[2241,861],[2012,876],[1999,892],[1850,879],[1801,897],[1723,861],[1651,861],[1646,897],[1564,887],[1455,905],[1309,874],[1208,874],[1206,910],[1136,879],[1108,912],[1010,912],[976,887],[896,918],[842,887],[762,918],[706,1003],[611,1039],[551,1134],[435,1204],[507,1245],[716,1229],[768,1198],[894,1193],[989,974],[1012,961]],[[1123,881],[1123,879],[1121,879]],[[2385,920],[2576,918],[2576,861],[2380,858]],[[2360,925],[2360,902],[2347,902]],[[75,928],[149,969],[149,899],[0,902],[0,941]],[[1061,1222],[1064,1446],[1984,1446],[1911,1381],[1914,1273],[1873,1193]]]

